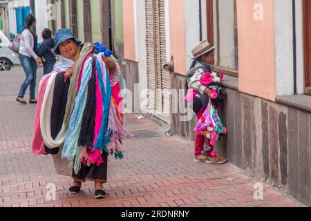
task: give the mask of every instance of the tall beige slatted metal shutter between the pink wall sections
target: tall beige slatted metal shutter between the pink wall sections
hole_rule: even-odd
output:
[[[147,72],[149,108],[169,116],[170,77],[167,62],[164,0],[145,0],[147,20]]]

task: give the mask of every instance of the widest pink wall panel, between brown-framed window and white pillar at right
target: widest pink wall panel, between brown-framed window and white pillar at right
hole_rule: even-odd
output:
[[[263,6],[263,21],[254,19],[254,5]],[[239,90],[274,101],[274,1],[237,0]]]

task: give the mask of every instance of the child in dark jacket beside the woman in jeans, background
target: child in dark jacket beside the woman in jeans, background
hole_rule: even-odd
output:
[[[52,31],[45,28],[42,32],[42,38],[44,41],[38,49],[37,55],[41,57],[44,66],[44,75],[47,75],[53,71],[56,63],[55,55],[52,48],[54,48],[54,39],[52,38]]]

